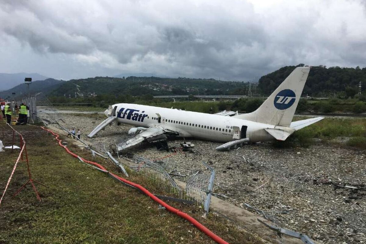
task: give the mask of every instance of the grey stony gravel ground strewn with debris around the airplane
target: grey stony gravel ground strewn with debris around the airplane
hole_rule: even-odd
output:
[[[126,138],[131,128],[113,124],[89,139],[86,135],[105,117],[61,117],[65,127],[80,128],[83,139],[108,147]],[[208,162],[216,170],[214,192],[228,196],[229,202],[270,211],[280,226],[323,243],[366,243],[366,191],[336,186],[366,188],[366,151],[320,143],[307,149],[277,149],[271,143],[256,143],[218,152],[214,148],[222,143],[189,141],[195,144],[193,153],[171,155],[149,143],[128,152],[149,159],[171,155],[164,159],[164,166],[186,175],[178,178],[183,181],[203,169],[202,161]],[[178,138],[168,144],[180,147],[182,142]],[[288,213],[278,213],[281,211]]]

